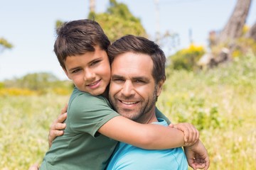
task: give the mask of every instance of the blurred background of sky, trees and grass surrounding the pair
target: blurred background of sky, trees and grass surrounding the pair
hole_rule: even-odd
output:
[[[9,0],[0,16],[0,169],[41,163],[73,90],[55,29],[82,18],[112,42],[133,34],[158,43],[168,61],[159,109],[200,130],[210,169],[256,169],[255,0]]]

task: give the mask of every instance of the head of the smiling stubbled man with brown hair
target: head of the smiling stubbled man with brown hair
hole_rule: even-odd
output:
[[[164,52],[146,38],[127,35],[110,45],[108,55],[110,102],[124,117],[148,123],[166,79]]]

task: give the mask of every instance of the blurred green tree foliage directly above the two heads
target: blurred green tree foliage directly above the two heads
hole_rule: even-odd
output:
[[[132,15],[127,5],[115,0],[110,1],[110,7],[105,13],[90,13],[88,18],[100,23],[112,42],[127,34],[147,36],[139,18]]]

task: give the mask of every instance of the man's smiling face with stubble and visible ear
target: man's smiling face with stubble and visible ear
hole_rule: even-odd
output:
[[[155,84],[152,70],[149,55],[126,52],[114,58],[110,102],[117,113],[139,123],[151,118],[162,85]]]

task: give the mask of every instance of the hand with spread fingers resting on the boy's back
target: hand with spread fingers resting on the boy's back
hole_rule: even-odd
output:
[[[68,105],[66,104],[65,107],[61,110],[60,115],[58,115],[58,118],[54,120],[53,124],[50,125],[50,131],[48,135],[48,144],[49,147],[51,147],[53,140],[64,134],[64,129],[66,124],[63,123],[67,118],[67,109]]]

